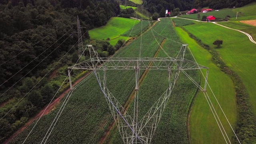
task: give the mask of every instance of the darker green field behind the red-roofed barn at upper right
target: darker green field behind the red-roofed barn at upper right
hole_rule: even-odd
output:
[[[231,18],[234,18],[236,17],[236,12],[233,12],[232,9],[223,9],[219,11],[200,13],[200,16],[201,16],[201,19],[202,19],[202,16],[214,16],[216,18],[226,18],[226,16],[230,16]],[[186,14],[180,17],[198,20],[198,14]]]

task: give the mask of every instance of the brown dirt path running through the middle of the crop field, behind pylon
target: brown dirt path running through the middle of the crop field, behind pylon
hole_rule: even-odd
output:
[[[164,39],[161,43],[161,46],[159,46],[158,50],[156,51],[156,53],[154,54],[154,58],[156,58],[158,56],[158,53],[160,52],[161,50],[161,47],[164,45],[166,39]],[[152,66],[152,62],[149,62],[148,66]],[[142,81],[144,80],[145,76],[148,74],[148,71],[149,70],[145,70],[144,73],[142,74],[140,80],[139,80],[139,87],[140,85],[142,84]],[[127,111],[128,108],[130,107],[130,104],[132,103],[132,101],[134,100],[134,97],[135,97],[135,88],[132,90],[132,93],[130,94],[130,96],[128,97],[128,99],[126,100],[125,104],[124,104],[124,109]],[[123,112],[121,112],[123,114]],[[103,144],[104,142],[106,142],[106,140],[111,140],[111,135],[110,135],[110,132],[112,130],[114,130],[115,128],[115,122],[113,122],[111,124],[111,126],[108,128],[108,130],[104,133],[104,136],[100,139],[100,144]],[[106,142],[108,143],[108,142]]]

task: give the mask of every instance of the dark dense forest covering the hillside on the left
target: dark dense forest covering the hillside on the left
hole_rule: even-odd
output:
[[[77,41],[77,16],[83,40],[88,41],[88,30],[105,25],[119,13],[114,0],[0,1],[0,142],[48,104],[58,90],[60,84],[50,83],[46,72],[65,54],[70,60],[62,60],[58,68],[78,59],[78,50],[72,49]],[[108,42],[97,45],[98,52],[106,47],[113,54],[114,46]]]

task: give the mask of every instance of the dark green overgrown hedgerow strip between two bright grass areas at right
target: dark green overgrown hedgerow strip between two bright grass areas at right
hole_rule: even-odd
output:
[[[183,28],[183,30],[185,30]],[[186,31],[186,30],[185,30]],[[223,72],[228,74],[230,78],[232,79],[235,90],[236,90],[236,100],[237,100],[237,106],[238,106],[238,121],[235,128],[235,133],[238,136],[238,139],[241,143],[244,144],[252,144],[256,141],[256,120],[254,118],[254,114],[251,109],[250,105],[250,99],[249,94],[246,91],[246,88],[241,80],[241,78],[233,72],[226,64],[222,61],[222,58],[220,58],[220,55],[216,50],[208,46],[207,44],[204,44],[196,38],[193,34],[186,31],[191,38],[196,40],[196,42],[208,50],[210,54],[212,54],[212,62],[220,68]],[[236,137],[234,138],[234,142],[238,143],[236,140]]]

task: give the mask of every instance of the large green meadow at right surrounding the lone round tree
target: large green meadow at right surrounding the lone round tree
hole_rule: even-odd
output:
[[[205,44],[216,48],[212,43],[219,39],[223,45],[216,48],[226,65],[240,76],[250,96],[250,103],[254,115],[256,114],[256,44],[249,38],[234,30],[220,27],[213,23],[202,23],[193,26],[184,26]]]

